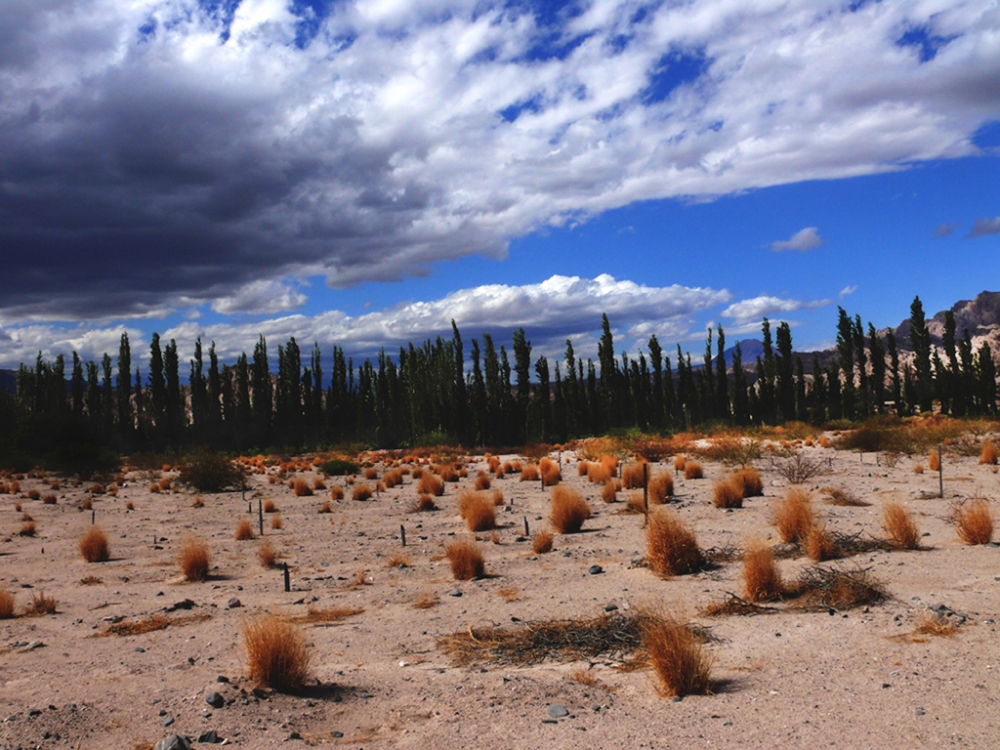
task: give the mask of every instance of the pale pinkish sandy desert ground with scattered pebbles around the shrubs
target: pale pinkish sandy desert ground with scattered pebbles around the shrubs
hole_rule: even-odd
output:
[[[56,502],[45,504],[25,495],[53,492],[52,478],[25,478],[17,496],[0,495],[0,586],[20,607],[44,592],[57,611],[0,621],[0,748],[148,748],[170,734],[197,739],[212,730],[220,742],[246,748],[997,747],[1000,550],[961,543],[949,520],[956,501],[996,495],[994,467],[949,456],[939,499],[937,475],[914,473],[926,455],[890,467],[872,454],[802,451],[825,466],[806,487],[830,530],[881,535],[882,508],[893,500],[916,518],[923,551],[878,550],[824,563],[869,569],[891,595],[885,603],[705,617],[702,607],[740,591],[741,563],[657,577],[641,564],[643,517],[621,513],[622,502],[602,502],[569,452],[561,454],[563,484],[593,511],[583,533],[556,535],[551,553],[534,554],[521,536],[524,519],[532,532],[546,527],[551,490],[517,475],[494,480],[506,500],[498,509],[499,543],[488,532],[478,535],[489,577],[467,582],[453,579],[442,552],[470,536],[456,498],[485,468],[482,456],[469,458],[467,478],[446,485],[439,511],[419,514],[408,512],[417,498],[411,476],[367,502],[351,500],[348,488],[325,514],[318,511],[328,492],[295,497],[287,481],[269,484],[266,475],[252,478],[246,502],[230,492],[203,495],[204,507],[193,507],[195,493],[153,494],[151,479],[160,473],[134,472],[116,497],[93,498],[112,553],[94,564],[77,551],[91,525],[91,513],[78,509],[88,483],[64,481]],[[729,471],[721,463],[704,462],[704,479],[677,479],[674,508],[702,548],[738,546],[754,536],[778,542],[772,507],[788,483],[768,459],[755,465],[764,496],[731,511],[710,502],[714,480]],[[672,464],[652,468],[673,473]],[[824,487],[872,505],[823,504]],[[288,593],[282,571],[258,562],[263,540],[234,538],[243,518],[256,528],[258,498],[280,510],[283,528],[271,529],[266,515],[263,540],[289,565]],[[24,512],[37,525],[34,537],[17,533]],[[178,551],[192,535],[211,549],[206,582],[188,583],[178,573]],[[409,565],[390,567],[400,554]],[[786,579],[811,564],[804,557],[779,561]],[[591,572],[595,565],[601,572]],[[241,606],[231,606],[234,598]],[[417,607],[420,600],[431,606]],[[657,603],[710,634],[713,694],[664,697],[650,670],[619,669],[620,654],[459,666],[438,642],[470,627],[591,618],[608,605],[628,616]],[[960,625],[953,635],[905,637],[941,605]],[[297,626],[318,684],[301,695],[255,693],[241,645],[246,618],[334,607],[360,611]],[[172,624],[138,635],[109,630],[158,614]],[[222,696],[221,707],[206,703],[212,692]],[[555,706],[566,715],[553,718],[562,713],[550,711]]]

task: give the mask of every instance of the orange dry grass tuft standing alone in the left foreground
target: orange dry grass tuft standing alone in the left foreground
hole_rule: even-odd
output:
[[[247,676],[262,687],[291,692],[309,676],[309,650],[296,628],[269,615],[243,624]]]

